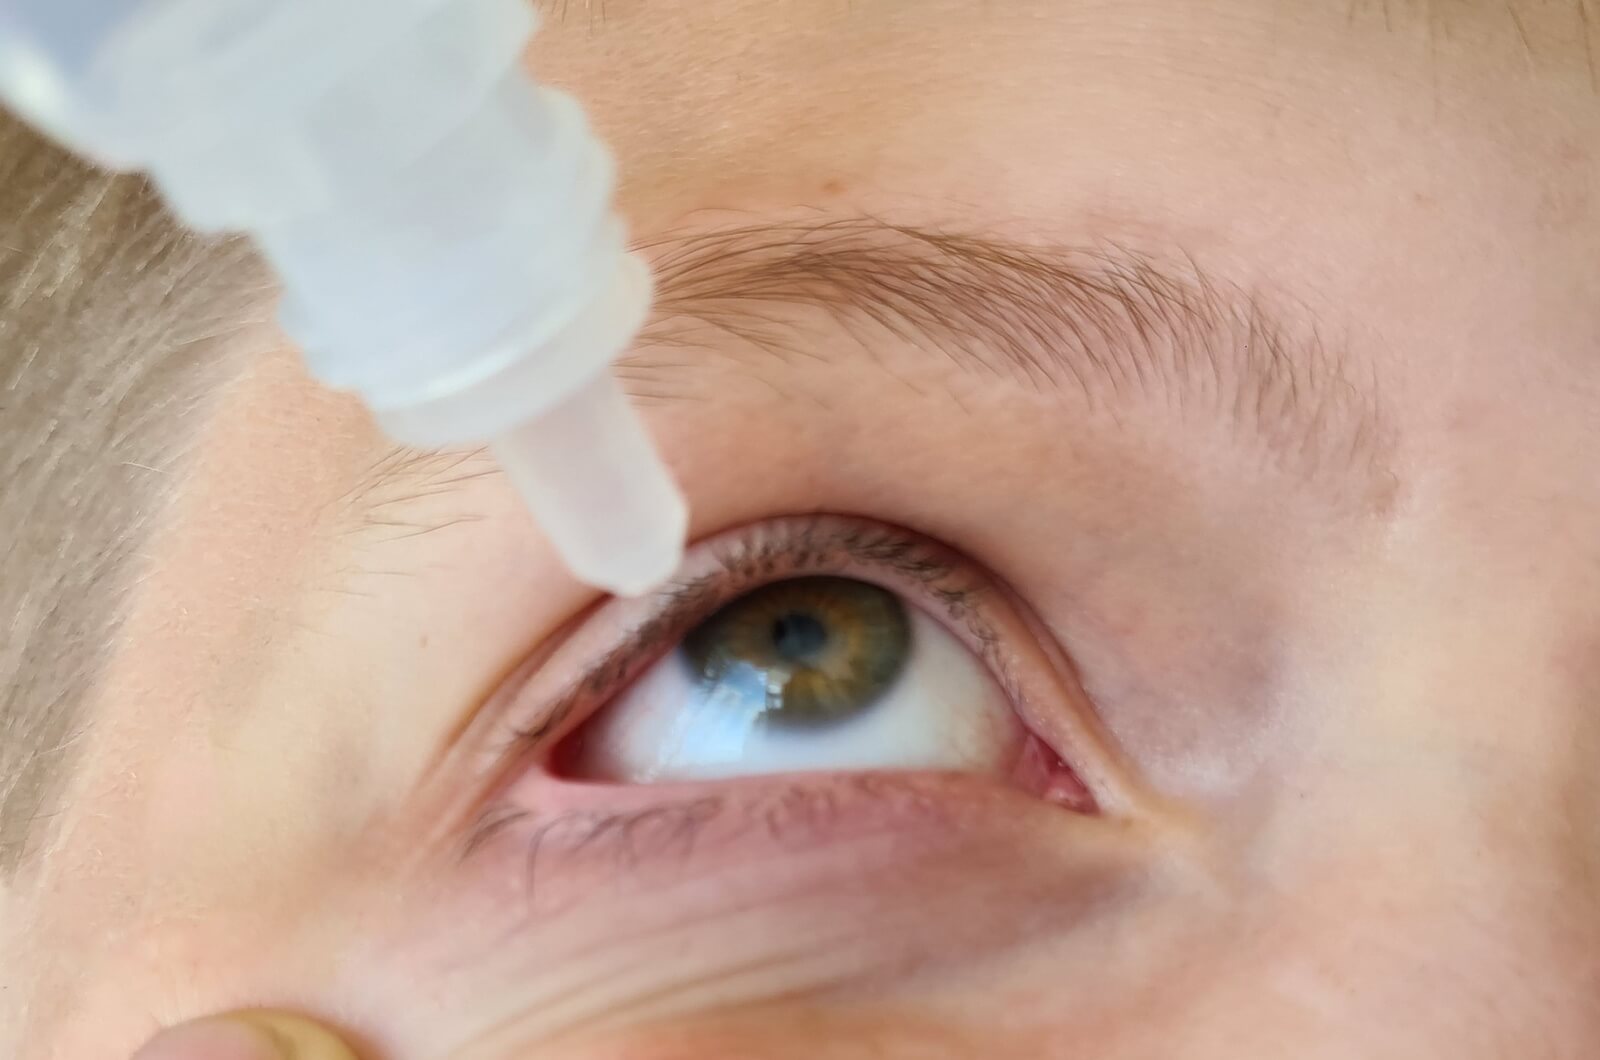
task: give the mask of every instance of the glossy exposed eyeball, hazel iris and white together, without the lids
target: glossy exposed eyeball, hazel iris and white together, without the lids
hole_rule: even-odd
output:
[[[691,629],[589,722],[568,772],[634,783],[1003,772],[1022,738],[986,665],[931,616],[866,581],[805,576]]]

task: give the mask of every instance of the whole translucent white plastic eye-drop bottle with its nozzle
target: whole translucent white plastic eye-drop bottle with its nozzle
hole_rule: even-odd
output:
[[[528,0],[11,0],[0,96],[250,232],[280,322],[395,439],[486,442],[573,573],[637,594],[688,512],[608,365],[650,304]]]

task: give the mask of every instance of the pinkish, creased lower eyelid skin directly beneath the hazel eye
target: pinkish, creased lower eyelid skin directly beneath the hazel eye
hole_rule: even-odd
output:
[[[1074,932],[1152,865],[1149,829],[965,773],[653,788],[530,770],[502,794],[418,921],[435,961],[515,969],[517,1004],[570,996],[552,967],[654,990],[774,943],[803,956],[797,990],[859,996]]]

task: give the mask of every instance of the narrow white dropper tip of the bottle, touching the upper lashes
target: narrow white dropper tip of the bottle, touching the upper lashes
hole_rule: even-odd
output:
[[[610,373],[490,448],[582,581],[640,596],[677,568],[688,504]]]

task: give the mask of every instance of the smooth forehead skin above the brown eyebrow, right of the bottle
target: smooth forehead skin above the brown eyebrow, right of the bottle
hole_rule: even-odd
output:
[[[1306,303],[1403,392],[1600,375],[1576,0],[547,6],[536,72],[646,237],[802,207],[1110,239]]]

